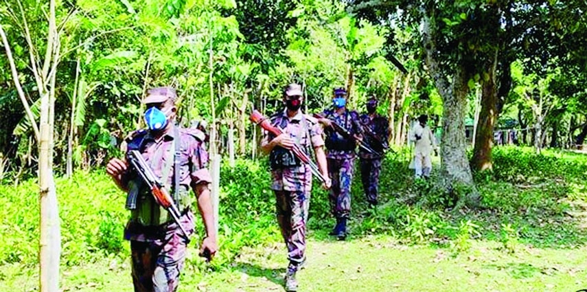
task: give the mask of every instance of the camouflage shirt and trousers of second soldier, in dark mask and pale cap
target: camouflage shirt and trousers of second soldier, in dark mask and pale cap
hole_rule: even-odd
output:
[[[286,111],[271,116],[271,124],[296,142],[311,156],[314,147],[324,145],[322,127],[310,116],[298,112],[295,117],[288,118]],[[264,132],[262,145],[274,139],[271,133]],[[311,144],[311,145],[310,145]],[[273,182],[271,189],[275,192],[277,223],[288,247],[288,259],[297,267],[304,260],[306,251],[306,223],[310,206],[310,190],[312,189],[312,172],[308,164],[271,170]]]

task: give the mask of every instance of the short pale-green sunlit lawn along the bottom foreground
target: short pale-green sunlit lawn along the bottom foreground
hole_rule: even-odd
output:
[[[300,291],[577,291],[587,288],[587,248],[538,249],[514,254],[500,243],[471,240],[452,249],[400,245],[388,236],[347,242],[310,240]],[[192,257],[195,250],[192,249]],[[228,269],[188,266],[179,291],[282,291],[282,245],[246,248]],[[198,259],[190,258],[191,262]],[[34,291],[36,269],[0,267],[0,291]],[[102,260],[62,271],[63,291],[133,291],[128,260]]]

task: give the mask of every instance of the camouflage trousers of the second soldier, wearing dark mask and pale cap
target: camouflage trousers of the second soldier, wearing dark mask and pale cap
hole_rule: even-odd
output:
[[[306,222],[310,207],[310,192],[303,190],[274,190],[277,223],[288,247],[288,259],[301,263],[306,251]]]

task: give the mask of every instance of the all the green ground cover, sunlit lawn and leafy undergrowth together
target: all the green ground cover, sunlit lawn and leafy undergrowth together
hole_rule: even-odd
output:
[[[344,243],[327,235],[334,219],[327,193],[315,188],[308,265],[298,277],[301,290],[587,288],[587,157],[545,153],[496,150],[494,171],[476,176],[482,198],[476,210],[452,210],[454,198],[434,188],[434,179],[413,179],[406,153],[389,155],[380,183],[382,204],[376,210],[367,207],[360,182],[354,180],[352,233]],[[435,166],[433,175],[437,170]],[[221,202],[227,203],[220,204],[220,255],[206,265],[192,244],[179,291],[282,291],[286,251],[279,243],[264,164],[240,161],[222,175]],[[62,179],[58,186],[67,222],[62,225],[62,291],[133,291],[128,243],[120,235],[124,197],[100,172]],[[85,199],[78,196],[80,190],[87,192]],[[5,193],[0,196],[5,206],[0,291],[35,291],[36,184],[23,183],[16,190],[0,185],[0,193]]]

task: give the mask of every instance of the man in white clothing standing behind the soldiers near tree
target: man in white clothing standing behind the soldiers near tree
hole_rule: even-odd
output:
[[[415,142],[414,168],[416,178],[424,175],[424,178],[428,179],[432,170],[430,153],[434,150],[434,153],[437,154],[437,146],[436,139],[430,128],[426,126],[426,122],[428,122],[427,115],[418,117],[418,123],[410,133],[410,141]]]

